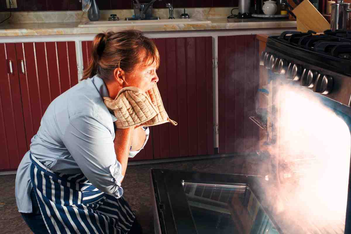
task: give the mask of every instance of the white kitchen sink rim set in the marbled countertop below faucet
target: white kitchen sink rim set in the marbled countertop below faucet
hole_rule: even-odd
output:
[[[137,25],[177,25],[177,24],[210,24],[210,20],[199,19],[164,19],[164,20],[119,20],[119,21],[89,21],[78,27],[111,27],[111,26],[137,26]]]

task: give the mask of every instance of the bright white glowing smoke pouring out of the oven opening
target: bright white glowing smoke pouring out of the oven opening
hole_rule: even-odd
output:
[[[278,88],[279,220],[302,233],[344,233],[351,136],[342,118],[314,93]],[[276,146],[277,146],[276,145]]]

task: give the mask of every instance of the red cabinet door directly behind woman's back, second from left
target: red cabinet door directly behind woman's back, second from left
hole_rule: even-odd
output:
[[[58,95],[78,83],[75,42],[16,43],[27,146]]]

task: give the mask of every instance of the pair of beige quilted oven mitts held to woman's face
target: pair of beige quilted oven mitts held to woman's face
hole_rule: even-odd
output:
[[[103,99],[107,108],[113,111],[117,118],[117,128],[137,128],[165,122],[177,125],[168,118],[156,85],[147,92],[137,87],[125,87],[114,100],[108,97]]]

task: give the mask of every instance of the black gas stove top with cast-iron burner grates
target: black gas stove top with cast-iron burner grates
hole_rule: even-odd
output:
[[[286,31],[271,36],[267,47],[306,63],[351,75],[351,31],[325,31],[316,34]]]

